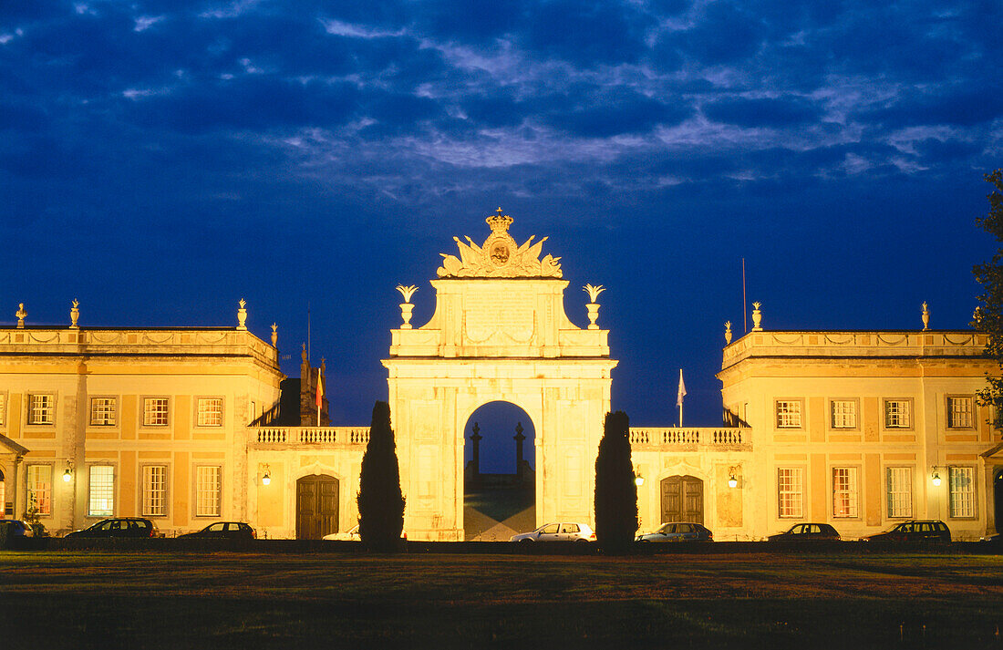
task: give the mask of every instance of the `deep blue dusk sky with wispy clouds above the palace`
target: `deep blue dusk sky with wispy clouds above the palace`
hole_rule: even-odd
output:
[[[966,327],[1003,151],[1003,4],[0,0],[0,322],[280,326],[336,422],[385,398],[398,283],[549,236],[602,284],[615,408],[719,421],[723,323]]]

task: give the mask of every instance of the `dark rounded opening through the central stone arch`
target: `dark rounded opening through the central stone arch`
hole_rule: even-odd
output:
[[[536,528],[537,431],[507,401],[479,406],[463,426],[463,537],[503,542]]]

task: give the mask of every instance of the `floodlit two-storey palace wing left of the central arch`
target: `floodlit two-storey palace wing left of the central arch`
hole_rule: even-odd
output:
[[[0,329],[5,516],[37,508],[53,534],[246,520],[247,424],[281,378],[276,348],[239,327]]]

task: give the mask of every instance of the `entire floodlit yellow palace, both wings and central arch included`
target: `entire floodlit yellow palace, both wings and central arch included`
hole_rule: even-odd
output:
[[[411,540],[464,532],[464,430],[489,402],[515,404],[536,435],[526,474],[538,525],[593,524],[594,465],[617,361],[600,329],[565,313],[546,238],[519,245],[489,217],[481,245],[455,239],[431,281],[435,309],[411,324],[398,287],[388,395]],[[576,288],[574,295],[581,296]],[[218,520],[261,537],[318,539],[357,521],[365,426],[327,421],[322,368],[299,381],[246,327],[0,328],[0,504],[53,534],[111,516],[168,535]],[[716,540],[758,540],[798,522],[847,538],[941,519],[955,540],[996,532],[1003,444],[976,391],[997,368],[973,331],[770,331],[725,335],[724,423],[634,427],[642,530],[696,522]],[[613,351],[615,352],[615,351]],[[318,389],[319,384],[319,389]],[[613,405],[615,407],[615,405]],[[521,443],[520,443],[521,444]],[[467,472],[468,473],[468,472]]]

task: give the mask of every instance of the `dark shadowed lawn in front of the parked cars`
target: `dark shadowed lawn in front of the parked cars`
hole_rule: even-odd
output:
[[[0,552],[0,648],[1000,648],[1003,558]]]

